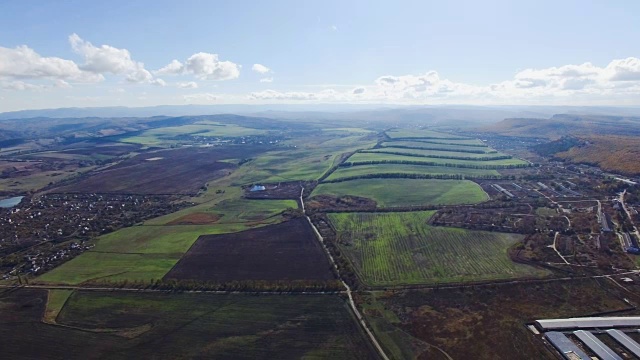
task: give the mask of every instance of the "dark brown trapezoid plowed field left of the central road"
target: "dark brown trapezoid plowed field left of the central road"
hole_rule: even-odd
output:
[[[204,235],[165,279],[330,280],[331,265],[304,218],[233,234]]]

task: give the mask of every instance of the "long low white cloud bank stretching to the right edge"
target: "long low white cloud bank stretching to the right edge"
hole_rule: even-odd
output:
[[[320,88],[320,86],[318,86]],[[593,101],[637,104],[640,98],[640,59],[613,60],[607,66],[591,63],[518,71],[513,78],[488,85],[472,85],[443,78],[436,71],[417,75],[384,75],[371,85],[336,91],[250,93],[253,101],[369,102],[398,104],[545,104]],[[635,99],[635,100],[634,100]]]

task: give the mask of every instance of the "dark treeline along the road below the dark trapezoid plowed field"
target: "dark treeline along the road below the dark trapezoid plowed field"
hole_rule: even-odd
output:
[[[170,292],[183,291],[229,291],[229,292],[340,292],[345,288],[339,280],[241,280],[229,282],[211,282],[198,280],[166,279],[166,280],[99,280],[88,283],[89,286],[102,286],[121,289],[161,290]]]

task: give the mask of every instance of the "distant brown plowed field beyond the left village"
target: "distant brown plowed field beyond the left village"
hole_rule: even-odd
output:
[[[207,181],[228,175],[237,168],[236,164],[220,160],[251,157],[264,150],[249,145],[149,152],[92,172],[53,192],[196,194]]]

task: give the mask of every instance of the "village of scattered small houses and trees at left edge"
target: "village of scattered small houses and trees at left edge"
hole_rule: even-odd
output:
[[[38,274],[93,247],[89,241],[189,203],[166,195],[44,194],[0,208],[0,276]]]

